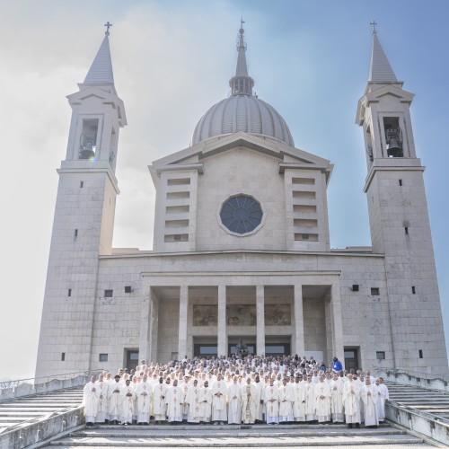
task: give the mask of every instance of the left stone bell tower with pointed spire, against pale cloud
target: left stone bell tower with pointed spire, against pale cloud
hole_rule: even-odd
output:
[[[36,377],[90,369],[98,257],[111,252],[119,129],[127,125],[112,73],[111,25],[105,26],[84,83],[67,97],[72,119],[57,170]]]

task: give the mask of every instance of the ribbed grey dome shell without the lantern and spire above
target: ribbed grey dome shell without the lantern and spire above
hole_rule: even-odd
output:
[[[295,146],[286,121],[277,110],[255,95],[247,94],[231,95],[207,110],[193,132],[192,145],[237,131],[274,137]]]

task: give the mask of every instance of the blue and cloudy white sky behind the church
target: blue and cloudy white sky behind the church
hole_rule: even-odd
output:
[[[0,0],[0,380],[34,375],[57,172],[71,109],[112,23],[119,136],[114,247],[151,250],[147,166],[189,146],[198,119],[229,93],[243,17],[254,90],[286,119],[295,146],[335,164],[332,248],[370,245],[365,145],[355,124],[372,45],[369,23],[404,89],[425,165],[446,334],[449,2],[429,0]],[[447,338],[446,338],[447,339]]]

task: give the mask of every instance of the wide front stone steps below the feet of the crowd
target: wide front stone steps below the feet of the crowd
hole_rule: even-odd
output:
[[[388,425],[348,429],[343,425],[154,425],[86,427],[44,446],[50,448],[123,447],[326,447],[429,448],[423,440]]]

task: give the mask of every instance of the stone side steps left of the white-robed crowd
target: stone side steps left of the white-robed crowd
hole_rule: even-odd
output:
[[[73,409],[83,401],[83,388],[24,396],[0,402],[0,435],[9,427],[45,418],[55,412]]]

